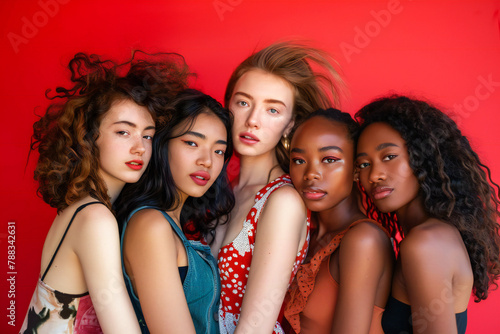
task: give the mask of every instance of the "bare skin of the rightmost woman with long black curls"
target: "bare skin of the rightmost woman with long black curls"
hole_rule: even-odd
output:
[[[467,308],[473,284],[460,233],[425,213],[406,142],[391,126],[373,123],[363,131],[357,164],[370,198],[382,212],[394,211],[405,233],[393,297],[411,305],[414,331],[456,333],[455,313]]]

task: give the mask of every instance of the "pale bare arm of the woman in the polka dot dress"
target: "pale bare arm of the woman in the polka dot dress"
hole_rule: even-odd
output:
[[[272,333],[305,234],[306,209],[299,194],[287,186],[276,190],[259,218],[235,333]]]

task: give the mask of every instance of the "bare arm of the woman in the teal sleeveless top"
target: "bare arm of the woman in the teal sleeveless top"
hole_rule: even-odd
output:
[[[195,333],[179,276],[177,247],[184,246],[160,212],[142,210],[129,221],[124,259],[151,333]]]

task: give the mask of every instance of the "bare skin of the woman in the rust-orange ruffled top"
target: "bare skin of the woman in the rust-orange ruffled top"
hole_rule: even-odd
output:
[[[352,192],[354,143],[344,124],[319,116],[301,125],[291,143],[290,175],[318,226],[308,257],[367,219]],[[389,238],[370,222],[344,235],[330,259],[330,275],[339,283],[331,333],[368,333],[373,306],[383,308],[389,296],[393,258]]]

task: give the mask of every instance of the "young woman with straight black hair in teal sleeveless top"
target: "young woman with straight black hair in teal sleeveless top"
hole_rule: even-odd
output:
[[[190,220],[209,234],[234,206],[231,118],[195,90],[182,92],[166,116],[149,168],[120,199],[125,281],[143,333],[218,333],[217,262],[183,228]]]

